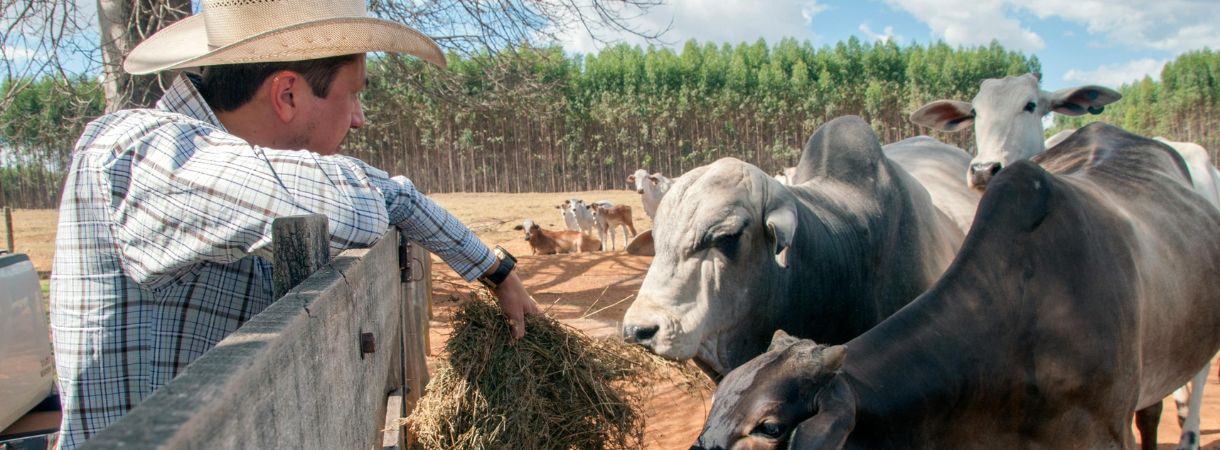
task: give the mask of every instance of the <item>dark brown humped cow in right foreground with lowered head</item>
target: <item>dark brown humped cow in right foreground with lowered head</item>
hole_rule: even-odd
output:
[[[902,311],[842,346],[776,333],[693,449],[1131,448],[1132,413],[1220,348],[1220,212],[1177,152],[1115,127],[1036,161],[997,174]]]

